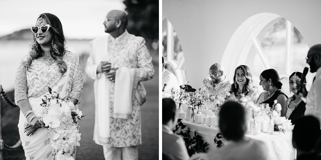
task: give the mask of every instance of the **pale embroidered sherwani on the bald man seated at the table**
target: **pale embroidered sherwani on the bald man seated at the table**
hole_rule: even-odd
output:
[[[221,81],[218,84],[215,84],[215,87],[211,77],[206,77],[203,81],[200,92],[204,95],[207,95],[207,94],[209,96],[219,95],[220,97],[225,97],[226,92],[229,92],[230,89],[231,89],[231,82],[226,76],[223,81]]]

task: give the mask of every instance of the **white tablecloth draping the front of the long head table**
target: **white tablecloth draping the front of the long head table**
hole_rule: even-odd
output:
[[[219,127],[209,127],[208,125],[196,124],[186,120],[183,120],[182,123],[187,126],[185,129],[183,129],[183,132],[185,132],[187,128],[190,128],[190,133],[194,136],[194,131],[196,130],[196,134],[201,135],[203,140],[209,144],[207,153],[211,152],[213,149],[216,149],[214,138],[216,134],[220,132]],[[255,136],[247,133],[245,136],[255,140],[263,141],[268,148],[270,160],[295,159],[295,149],[292,146],[292,132],[286,132],[285,134],[282,132],[281,134],[279,132],[274,132],[273,134],[261,132]],[[224,144],[224,140],[222,141]]]

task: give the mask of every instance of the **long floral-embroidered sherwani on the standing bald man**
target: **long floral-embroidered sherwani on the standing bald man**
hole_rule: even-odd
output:
[[[99,44],[99,45],[97,45]],[[147,47],[145,46],[145,40],[143,37],[134,36],[129,34],[127,30],[116,39],[110,35],[96,38],[91,42],[92,52],[87,60],[86,73],[92,79],[95,79],[95,127],[94,127],[94,139],[96,144],[104,145],[107,147],[129,147],[137,146],[141,144],[141,113],[138,100],[132,99],[132,116],[128,119],[113,118],[114,110],[114,87],[115,83],[107,82],[104,74],[97,74],[97,66],[100,61],[104,59],[108,54],[108,60],[112,65],[112,68],[138,68],[138,74],[136,75],[138,81],[146,81],[153,77],[154,69],[152,65],[152,57],[150,56]],[[104,51],[106,52],[96,52]],[[109,84],[107,88],[109,91],[106,95],[108,97],[101,97],[99,89],[104,85],[100,83],[102,80]],[[100,90],[101,91],[101,90]],[[108,106],[100,105],[100,100],[108,99]],[[109,108],[109,137],[101,137],[99,131],[102,127],[108,127],[108,125],[98,125],[97,111],[101,108]],[[108,131],[106,130],[106,131]]]

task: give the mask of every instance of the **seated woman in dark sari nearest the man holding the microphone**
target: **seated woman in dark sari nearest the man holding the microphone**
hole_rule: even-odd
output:
[[[294,94],[285,101],[287,106],[285,117],[290,119],[293,125],[303,116],[305,111],[305,103],[301,99],[302,96],[300,94],[297,95],[297,85],[301,81],[301,76],[301,72],[293,72],[289,77],[290,93],[293,92]],[[304,84],[307,84],[307,81]]]

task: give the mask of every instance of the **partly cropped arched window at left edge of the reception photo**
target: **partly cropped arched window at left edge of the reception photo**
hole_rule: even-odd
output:
[[[176,76],[178,84],[186,84],[185,58],[182,47],[172,24],[164,16],[162,21],[162,56],[165,68]]]

